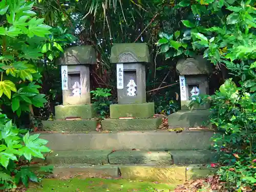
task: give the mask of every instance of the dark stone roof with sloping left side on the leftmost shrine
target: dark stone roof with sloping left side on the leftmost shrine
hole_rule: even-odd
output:
[[[93,46],[75,46],[65,50],[57,65],[94,65],[96,52]]]

